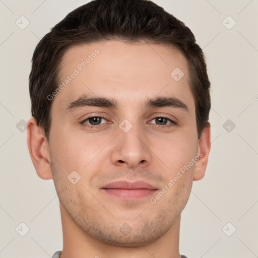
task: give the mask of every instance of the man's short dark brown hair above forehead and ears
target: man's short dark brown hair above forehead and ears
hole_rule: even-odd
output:
[[[29,76],[31,113],[47,140],[52,104],[47,96],[58,87],[62,56],[72,46],[110,39],[172,45],[184,54],[199,139],[209,123],[210,81],[203,51],[190,29],[151,1],[95,0],[69,13],[40,40],[34,51]]]

